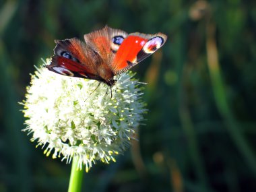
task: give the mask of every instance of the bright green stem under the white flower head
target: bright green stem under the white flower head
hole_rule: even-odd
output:
[[[73,158],[68,192],[79,192],[82,189],[84,169],[78,169],[77,165],[77,158]]]

